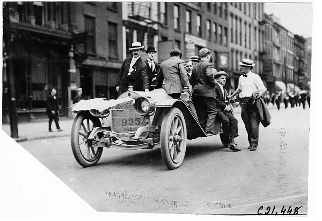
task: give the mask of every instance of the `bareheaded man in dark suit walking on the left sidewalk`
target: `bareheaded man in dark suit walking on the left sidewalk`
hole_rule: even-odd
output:
[[[51,90],[51,94],[47,97],[46,114],[48,115],[48,118],[49,118],[49,132],[53,132],[52,131],[53,119],[55,121],[57,131],[62,131],[58,123],[58,105],[57,105],[56,93],[57,93],[56,89],[53,88]]]

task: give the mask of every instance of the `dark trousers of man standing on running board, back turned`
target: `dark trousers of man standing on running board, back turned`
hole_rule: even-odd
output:
[[[192,96],[199,123],[205,131],[211,131],[215,124],[217,106],[214,97]]]

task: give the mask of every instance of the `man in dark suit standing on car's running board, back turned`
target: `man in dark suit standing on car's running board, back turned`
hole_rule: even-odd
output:
[[[203,48],[199,51],[199,55],[200,62],[192,68],[192,101],[196,107],[199,123],[208,135],[214,135],[216,132],[213,127],[217,113],[215,101],[215,74],[217,71],[209,63],[212,56],[211,50]]]

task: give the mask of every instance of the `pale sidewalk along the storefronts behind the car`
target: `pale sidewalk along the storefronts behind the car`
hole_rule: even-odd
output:
[[[268,109],[277,109],[276,105],[274,107],[269,104]],[[281,107],[284,109],[284,107]],[[240,113],[241,107],[238,106],[235,108],[235,113]],[[53,137],[67,137],[70,136],[71,126],[73,124],[73,118],[68,117],[59,117],[59,126],[63,131],[57,132],[56,125],[53,121],[52,129],[54,132],[48,131],[48,118],[34,119],[31,122],[18,122],[18,138],[12,138],[16,142],[31,141],[31,140],[40,140],[48,139]],[[10,124],[2,124],[2,130],[10,136]]]

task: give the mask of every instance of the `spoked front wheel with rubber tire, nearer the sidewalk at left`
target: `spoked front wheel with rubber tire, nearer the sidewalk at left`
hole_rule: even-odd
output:
[[[80,129],[82,126],[82,123],[84,123],[84,127],[87,129],[87,133],[84,135],[80,134]],[[92,122],[92,124],[94,125],[93,128],[95,127],[99,127],[102,126],[101,121],[98,117],[93,116],[92,114],[90,114],[90,112],[88,110],[85,111],[81,111],[77,114],[77,116],[75,117],[74,121],[73,121],[73,125],[71,128],[71,136],[70,136],[70,141],[71,141],[71,149],[73,151],[74,157],[77,161],[77,163],[81,166],[84,167],[88,167],[88,166],[93,166],[96,165],[103,153],[103,148],[102,147],[89,147],[87,144],[87,141],[84,142],[84,144],[79,144],[79,140],[80,137],[81,138],[87,138],[90,134],[90,132],[93,130],[93,128],[88,129],[88,124],[87,122]],[[86,126],[85,126],[86,125]],[[101,137],[103,134],[99,133],[97,135],[97,137]],[[83,148],[81,147],[83,146]],[[83,149],[85,149],[85,151],[83,151]],[[91,156],[90,158],[88,158],[87,156],[84,156],[82,154],[83,153],[88,153],[88,154],[93,154],[93,156]],[[93,152],[94,151],[94,152]]]

